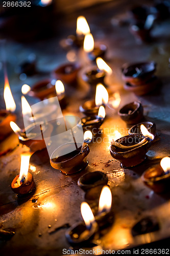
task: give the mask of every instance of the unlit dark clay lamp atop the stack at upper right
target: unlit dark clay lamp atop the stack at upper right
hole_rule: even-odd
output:
[[[156,71],[156,62],[139,62],[132,65],[124,64],[122,67],[122,78],[131,86],[140,86],[150,80]]]

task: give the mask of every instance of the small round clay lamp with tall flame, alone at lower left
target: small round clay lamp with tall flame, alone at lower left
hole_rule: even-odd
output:
[[[33,176],[28,173],[30,157],[29,152],[21,154],[20,174],[11,183],[11,188],[18,197],[28,196],[35,189]]]

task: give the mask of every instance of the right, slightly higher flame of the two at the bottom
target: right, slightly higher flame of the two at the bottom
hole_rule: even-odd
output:
[[[99,199],[99,212],[110,211],[112,205],[112,193],[108,186],[104,186]]]

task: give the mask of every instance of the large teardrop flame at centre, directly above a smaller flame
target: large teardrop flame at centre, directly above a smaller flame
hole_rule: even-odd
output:
[[[102,83],[98,83],[95,92],[95,105],[100,106],[103,103],[107,104],[109,100],[109,94]]]

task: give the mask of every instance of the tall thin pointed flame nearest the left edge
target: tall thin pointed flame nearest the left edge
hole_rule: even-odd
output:
[[[7,75],[5,75],[4,100],[6,104],[6,110],[14,112],[16,109],[16,105],[11,93]]]

